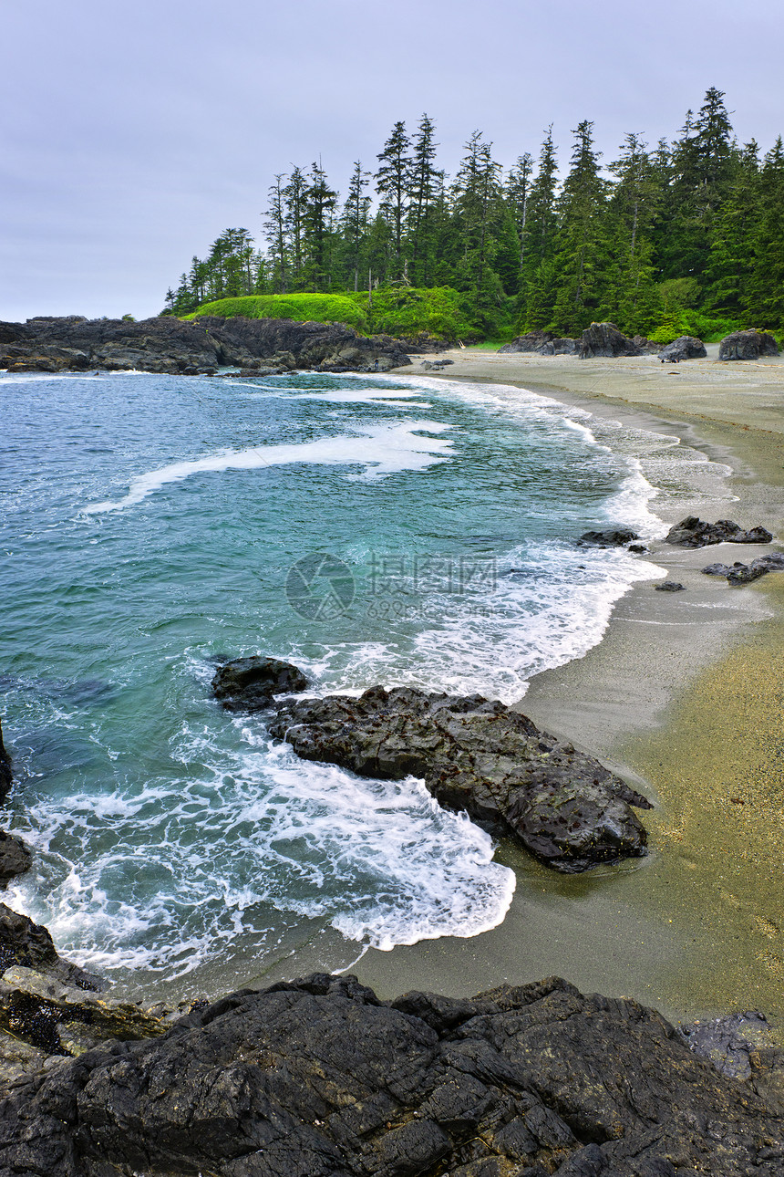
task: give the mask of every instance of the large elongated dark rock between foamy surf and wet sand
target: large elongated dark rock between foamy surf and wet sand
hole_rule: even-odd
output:
[[[558,871],[646,853],[631,806],[649,802],[592,757],[480,694],[374,686],[359,699],[283,703],[270,725],[306,760],[364,777],[422,777],[445,809],[465,811]]]

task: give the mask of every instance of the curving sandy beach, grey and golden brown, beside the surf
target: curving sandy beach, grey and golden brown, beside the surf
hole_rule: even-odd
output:
[[[708,463],[686,464],[691,485],[652,510],[668,525],[689,513],[763,524],[779,550],[784,358],[719,364],[716,352],[676,366],[453,351],[438,375],[679,439]],[[644,789],[650,856],[569,877],[502,844],[517,890],[498,927],[371,950],[353,970],[363,982],[383,996],[467,995],[558,973],[675,1019],[762,1009],[784,1039],[784,574],[731,588],[699,571],[770,550],[654,543],[646,558],[686,591],[637,585],[603,641],[537,676],[520,704]]]

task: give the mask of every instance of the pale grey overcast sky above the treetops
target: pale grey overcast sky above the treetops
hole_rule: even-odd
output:
[[[780,5],[758,0],[2,0],[0,319],[155,314],[229,226],[261,239],[276,172],[346,192],[391,125],[435,119],[455,172],[554,122],[674,138],[709,86],[742,141],[784,132]]]

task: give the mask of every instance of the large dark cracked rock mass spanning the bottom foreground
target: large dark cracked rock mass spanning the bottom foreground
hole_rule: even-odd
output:
[[[19,1082],[0,1175],[778,1177],[784,1123],[758,1082],[558,978],[380,1002],[314,975]]]

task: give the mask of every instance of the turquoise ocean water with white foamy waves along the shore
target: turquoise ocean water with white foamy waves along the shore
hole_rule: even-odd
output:
[[[299,760],[210,697],[294,661],[521,699],[661,577],[581,547],[666,530],[693,451],[420,375],[0,374],[7,902],[129,992],[219,992],[503,920],[515,873],[421,782]]]

